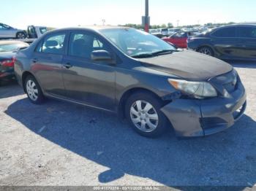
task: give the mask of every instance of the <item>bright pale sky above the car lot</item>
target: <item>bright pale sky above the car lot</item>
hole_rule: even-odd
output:
[[[25,29],[141,23],[145,0],[0,0],[0,23]],[[256,22],[255,0],[149,0],[151,25]],[[177,22],[177,20],[179,20]]]

